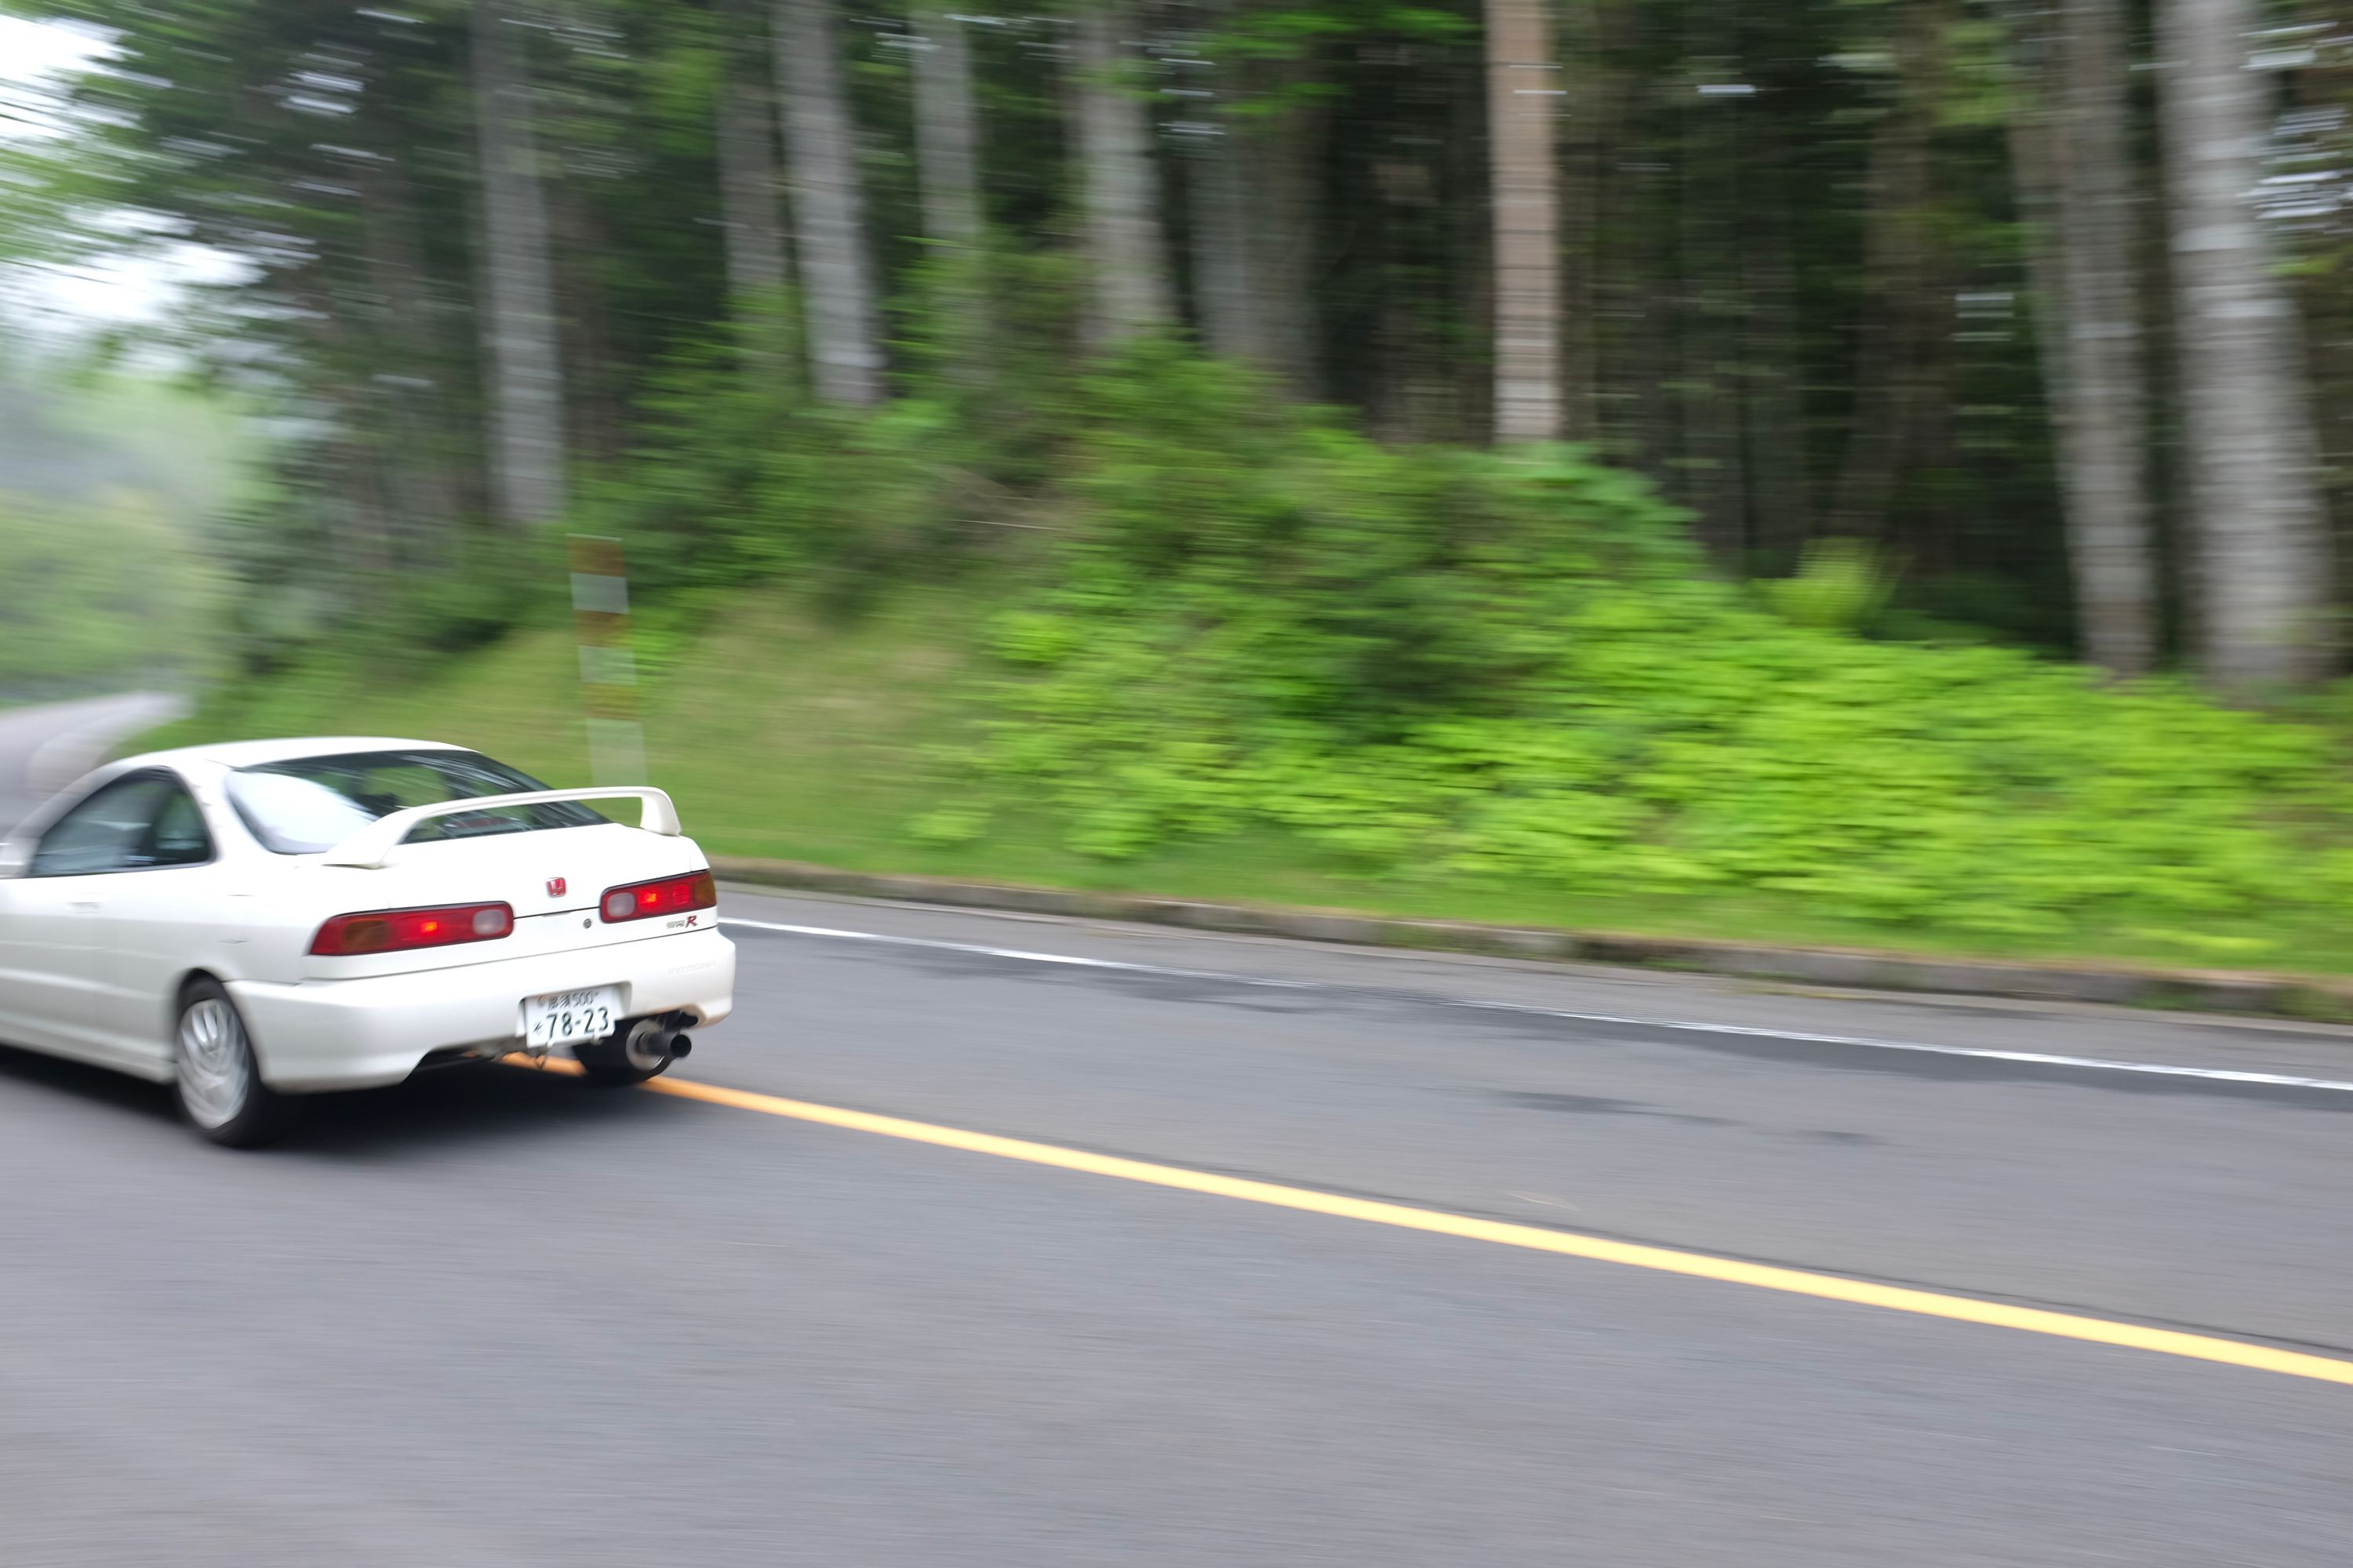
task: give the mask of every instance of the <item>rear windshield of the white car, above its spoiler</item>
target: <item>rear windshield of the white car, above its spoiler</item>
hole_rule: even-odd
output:
[[[238,769],[228,776],[228,802],[264,849],[280,856],[313,856],[393,811],[546,788],[529,773],[518,773],[480,752],[351,752]],[[602,820],[607,818],[572,802],[494,806],[428,818],[405,842],[588,827]]]

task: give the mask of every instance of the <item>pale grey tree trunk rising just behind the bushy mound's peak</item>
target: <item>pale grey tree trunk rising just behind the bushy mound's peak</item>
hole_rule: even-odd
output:
[[[1087,261],[1094,306],[1087,336],[1108,348],[1174,320],[1160,237],[1160,174],[1144,103],[1120,80],[1125,0],[1089,5],[1073,24],[1078,155],[1085,169]]]

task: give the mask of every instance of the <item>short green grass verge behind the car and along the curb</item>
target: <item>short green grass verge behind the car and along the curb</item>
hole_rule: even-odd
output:
[[[993,602],[969,585],[908,590],[878,611],[833,621],[776,592],[736,595],[640,686],[652,780],[678,799],[687,830],[722,856],[1409,919],[1937,957],[2217,966],[2129,933],[2059,945],[1969,940],[1835,919],[1769,893],[1600,898],[1534,884],[1372,879],[1280,835],[1104,863],[1066,849],[1045,813],[1014,813],[981,842],[922,844],[908,823],[955,799],[960,780],[944,752],[972,733],[979,684],[995,679],[976,658],[979,618]],[[311,668],[226,689],[136,748],[296,733],[454,741],[558,785],[588,783],[569,630],[529,630],[424,675]],[[2259,943],[2264,969],[2353,973],[2353,950],[2320,917],[2240,922],[2217,936]]]

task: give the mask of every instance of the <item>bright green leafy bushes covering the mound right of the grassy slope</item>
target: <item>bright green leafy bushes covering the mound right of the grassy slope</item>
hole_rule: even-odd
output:
[[[2353,898],[2327,731],[1857,639],[1885,595],[1859,552],[1769,614],[1572,449],[1384,449],[1252,400],[1172,350],[1099,376],[1082,527],[993,623],[1019,675],[979,762],[1073,849],[1280,827],[1386,879],[2200,954],[2209,922]],[[920,825],[981,830],[972,802]]]

